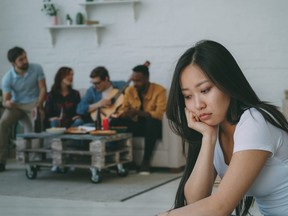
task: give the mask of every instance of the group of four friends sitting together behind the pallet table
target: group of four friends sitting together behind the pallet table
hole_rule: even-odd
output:
[[[17,121],[26,119],[25,132],[31,132],[31,116],[38,113],[44,119],[45,128],[69,128],[93,122],[95,113],[100,112],[109,119],[110,126],[126,126],[134,136],[145,138],[139,174],[150,173],[150,159],[162,134],[166,110],[165,88],[149,80],[150,62],[134,67],[127,82],[113,82],[105,67],[94,68],[90,73],[92,85],[81,98],[79,91],[73,89],[72,68],[60,67],[47,93],[41,65],[29,63],[23,48],[10,49],[7,57],[12,67],[2,78],[5,110],[0,119],[0,172],[6,167],[9,128]]]

